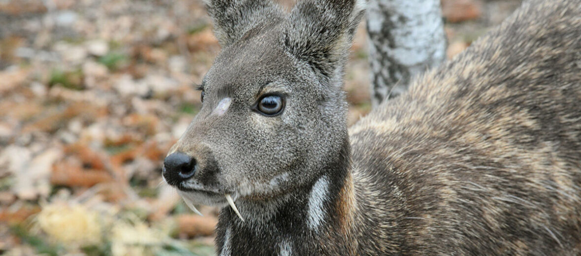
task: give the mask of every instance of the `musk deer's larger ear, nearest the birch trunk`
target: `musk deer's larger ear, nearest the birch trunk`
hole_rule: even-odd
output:
[[[321,75],[342,71],[366,0],[304,0],[295,6],[282,33],[285,50]]]

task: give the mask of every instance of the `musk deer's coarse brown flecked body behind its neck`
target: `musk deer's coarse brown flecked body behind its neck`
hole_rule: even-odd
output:
[[[581,2],[525,3],[350,139],[362,248],[580,255]]]

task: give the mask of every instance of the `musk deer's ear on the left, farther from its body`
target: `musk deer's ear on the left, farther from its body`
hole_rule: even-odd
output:
[[[243,37],[248,31],[284,17],[271,0],[203,0],[214,23],[214,34],[222,47]]]

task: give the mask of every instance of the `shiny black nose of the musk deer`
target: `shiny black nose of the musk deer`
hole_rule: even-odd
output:
[[[187,154],[175,152],[163,160],[162,175],[170,185],[192,178],[196,172],[196,160]]]

